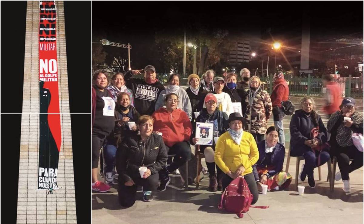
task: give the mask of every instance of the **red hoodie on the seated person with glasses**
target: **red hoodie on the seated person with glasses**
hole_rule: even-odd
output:
[[[153,131],[162,132],[163,141],[168,147],[181,141],[189,141],[192,133],[191,121],[187,113],[177,108],[168,112],[161,107],[152,114]]]

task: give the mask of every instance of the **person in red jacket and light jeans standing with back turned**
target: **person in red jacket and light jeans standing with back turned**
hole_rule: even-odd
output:
[[[273,122],[274,127],[278,129],[279,133],[279,143],[283,146],[285,145],[285,137],[284,137],[284,129],[283,129],[283,119],[284,119],[284,112],[282,111],[282,101],[287,101],[289,96],[289,87],[284,80],[283,72],[274,74],[273,77],[274,89],[272,92],[272,96],[270,99],[272,100],[272,107],[273,107]]]

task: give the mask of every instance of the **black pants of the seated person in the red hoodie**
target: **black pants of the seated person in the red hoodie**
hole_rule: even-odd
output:
[[[169,172],[173,172],[180,166],[186,163],[187,159],[191,157],[191,147],[187,141],[181,141],[174,144],[172,147],[167,147],[168,155],[175,155],[173,162],[168,167]]]

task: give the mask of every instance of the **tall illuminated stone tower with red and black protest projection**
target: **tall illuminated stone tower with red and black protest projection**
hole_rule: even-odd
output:
[[[56,41],[54,43],[56,43],[56,45],[51,45],[56,46],[56,49],[53,49],[54,53],[56,53],[56,62],[53,65],[56,65],[55,67],[57,69],[50,68],[51,63],[50,67],[42,68],[44,65],[40,63],[42,60],[39,60],[40,57],[43,57],[41,56],[39,42],[41,41],[40,23],[42,21],[40,19],[40,17],[42,17],[42,15],[40,15],[40,2],[27,1],[17,223],[76,223],[63,1],[55,1],[55,3],[44,1],[43,4],[55,4],[56,7],[56,13],[54,13],[54,16],[56,14],[56,23],[54,21],[56,24],[56,31],[54,31],[56,32]],[[47,31],[49,29],[44,30]],[[46,40],[44,43],[52,42]],[[51,48],[52,46],[49,44],[47,45],[48,48]],[[44,61],[45,60],[43,60],[43,62]],[[44,71],[44,73],[48,73],[45,76],[40,74],[42,73],[40,70],[43,69],[49,70]],[[49,73],[54,73],[51,70],[55,70],[58,82],[47,83],[48,79],[46,78],[44,79],[44,83],[39,82],[41,79],[40,77],[50,77],[49,75],[52,74]],[[51,85],[53,85],[53,88],[51,88]],[[42,105],[45,101],[47,102],[47,100],[44,100],[42,96],[47,97],[49,92],[52,94],[52,99],[50,103],[48,101],[46,111],[48,110],[48,113],[55,113],[54,111],[59,110],[59,112],[52,115],[45,115],[44,109],[42,111]],[[56,102],[56,107],[55,103],[52,105],[52,102]],[[48,109],[48,104],[49,108],[54,107],[56,109]],[[52,117],[54,118],[53,121],[51,119]],[[44,128],[43,121],[47,121],[46,128]],[[52,122],[57,124],[51,124]],[[48,123],[50,128],[48,128]],[[41,137],[44,136],[44,133],[46,133],[47,138],[50,137],[55,140],[44,143]],[[40,149],[42,149],[42,145],[45,144],[50,145],[48,148],[55,148],[58,150],[59,155],[53,156],[52,152],[48,150],[48,154],[44,156],[44,152]],[[59,159],[56,159],[58,156]],[[48,160],[44,162],[44,160],[41,159],[43,157],[47,157]],[[58,161],[58,164],[55,161]],[[40,167],[46,166],[44,163],[48,164],[48,168],[54,168],[54,166],[58,167],[58,172],[56,174],[58,189],[53,190],[53,188],[51,189],[51,187],[44,184],[43,187],[47,186],[44,187],[46,189],[40,189],[39,170],[41,170]],[[46,174],[46,177],[55,177],[55,169],[52,169],[52,172],[53,173],[51,174]],[[42,175],[44,175],[44,173],[42,173]],[[44,180],[43,183],[49,182]],[[39,189],[37,190],[37,188]]]

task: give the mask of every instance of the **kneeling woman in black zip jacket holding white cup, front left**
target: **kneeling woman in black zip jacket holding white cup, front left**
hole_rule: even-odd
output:
[[[125,138],[116,152],[116,169],[119,173],[119,203],[131,207],[135,203],[137,186],[142,186],[143,200],[153,200],[152,191],[158,187],[158,172],[167,161],[162,136],[152,133],[154,120],[143,115],[137,121],[140,135]],[[147,167],[143,178],[139,167]]]

